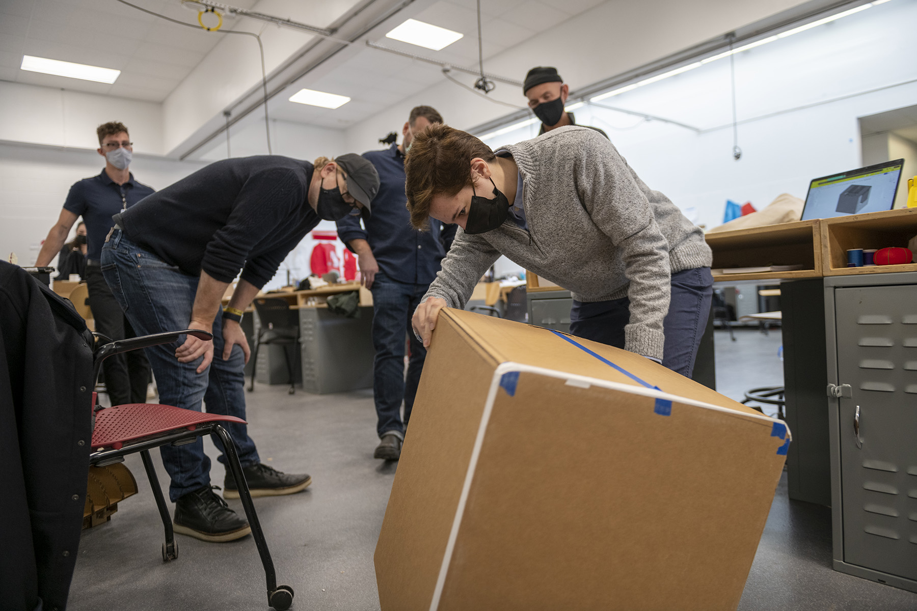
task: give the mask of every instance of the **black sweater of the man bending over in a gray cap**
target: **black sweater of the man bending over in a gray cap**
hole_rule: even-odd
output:
[[[127,236],[191,276],[259,289],[319,218],[306,200],[313,167],[279,155],[216,161],[112,218]],[[244,267],[243,267],[244,266]]]

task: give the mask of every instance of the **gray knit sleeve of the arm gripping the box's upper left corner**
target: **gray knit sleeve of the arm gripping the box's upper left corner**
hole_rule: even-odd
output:
[[[448,307],[464,310],[478,280],[500,253],[477,235],[468,235],[461,228],[443,259],[442,269],[427,289],[422,302],[429,297],[446,300]]]

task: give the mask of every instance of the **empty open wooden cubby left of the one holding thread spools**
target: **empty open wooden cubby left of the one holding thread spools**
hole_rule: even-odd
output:
[[[819,221],[797,221],[707,234],[714,269],[801,265],[793,271],[754,274],[714,274],[713,280],[768,280],[822,276],[822,234]]]

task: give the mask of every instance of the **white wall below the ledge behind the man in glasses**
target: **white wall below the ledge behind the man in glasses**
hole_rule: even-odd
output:
[[[137,155],[130,169],[140,182],[162,189],[204,165]],[[0,256],[16,253],[19,265],[33,265],[71,185],[104,167],[94,150],[0,144]]]

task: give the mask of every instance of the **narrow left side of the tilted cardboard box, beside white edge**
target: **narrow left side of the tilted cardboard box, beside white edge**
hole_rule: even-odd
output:
[[[376,546],[383,609],[428,609],[497,363],[443,319]],[[416,409],[416,406],[424,406]],[[410,450],[407,448],[410,447]]]

